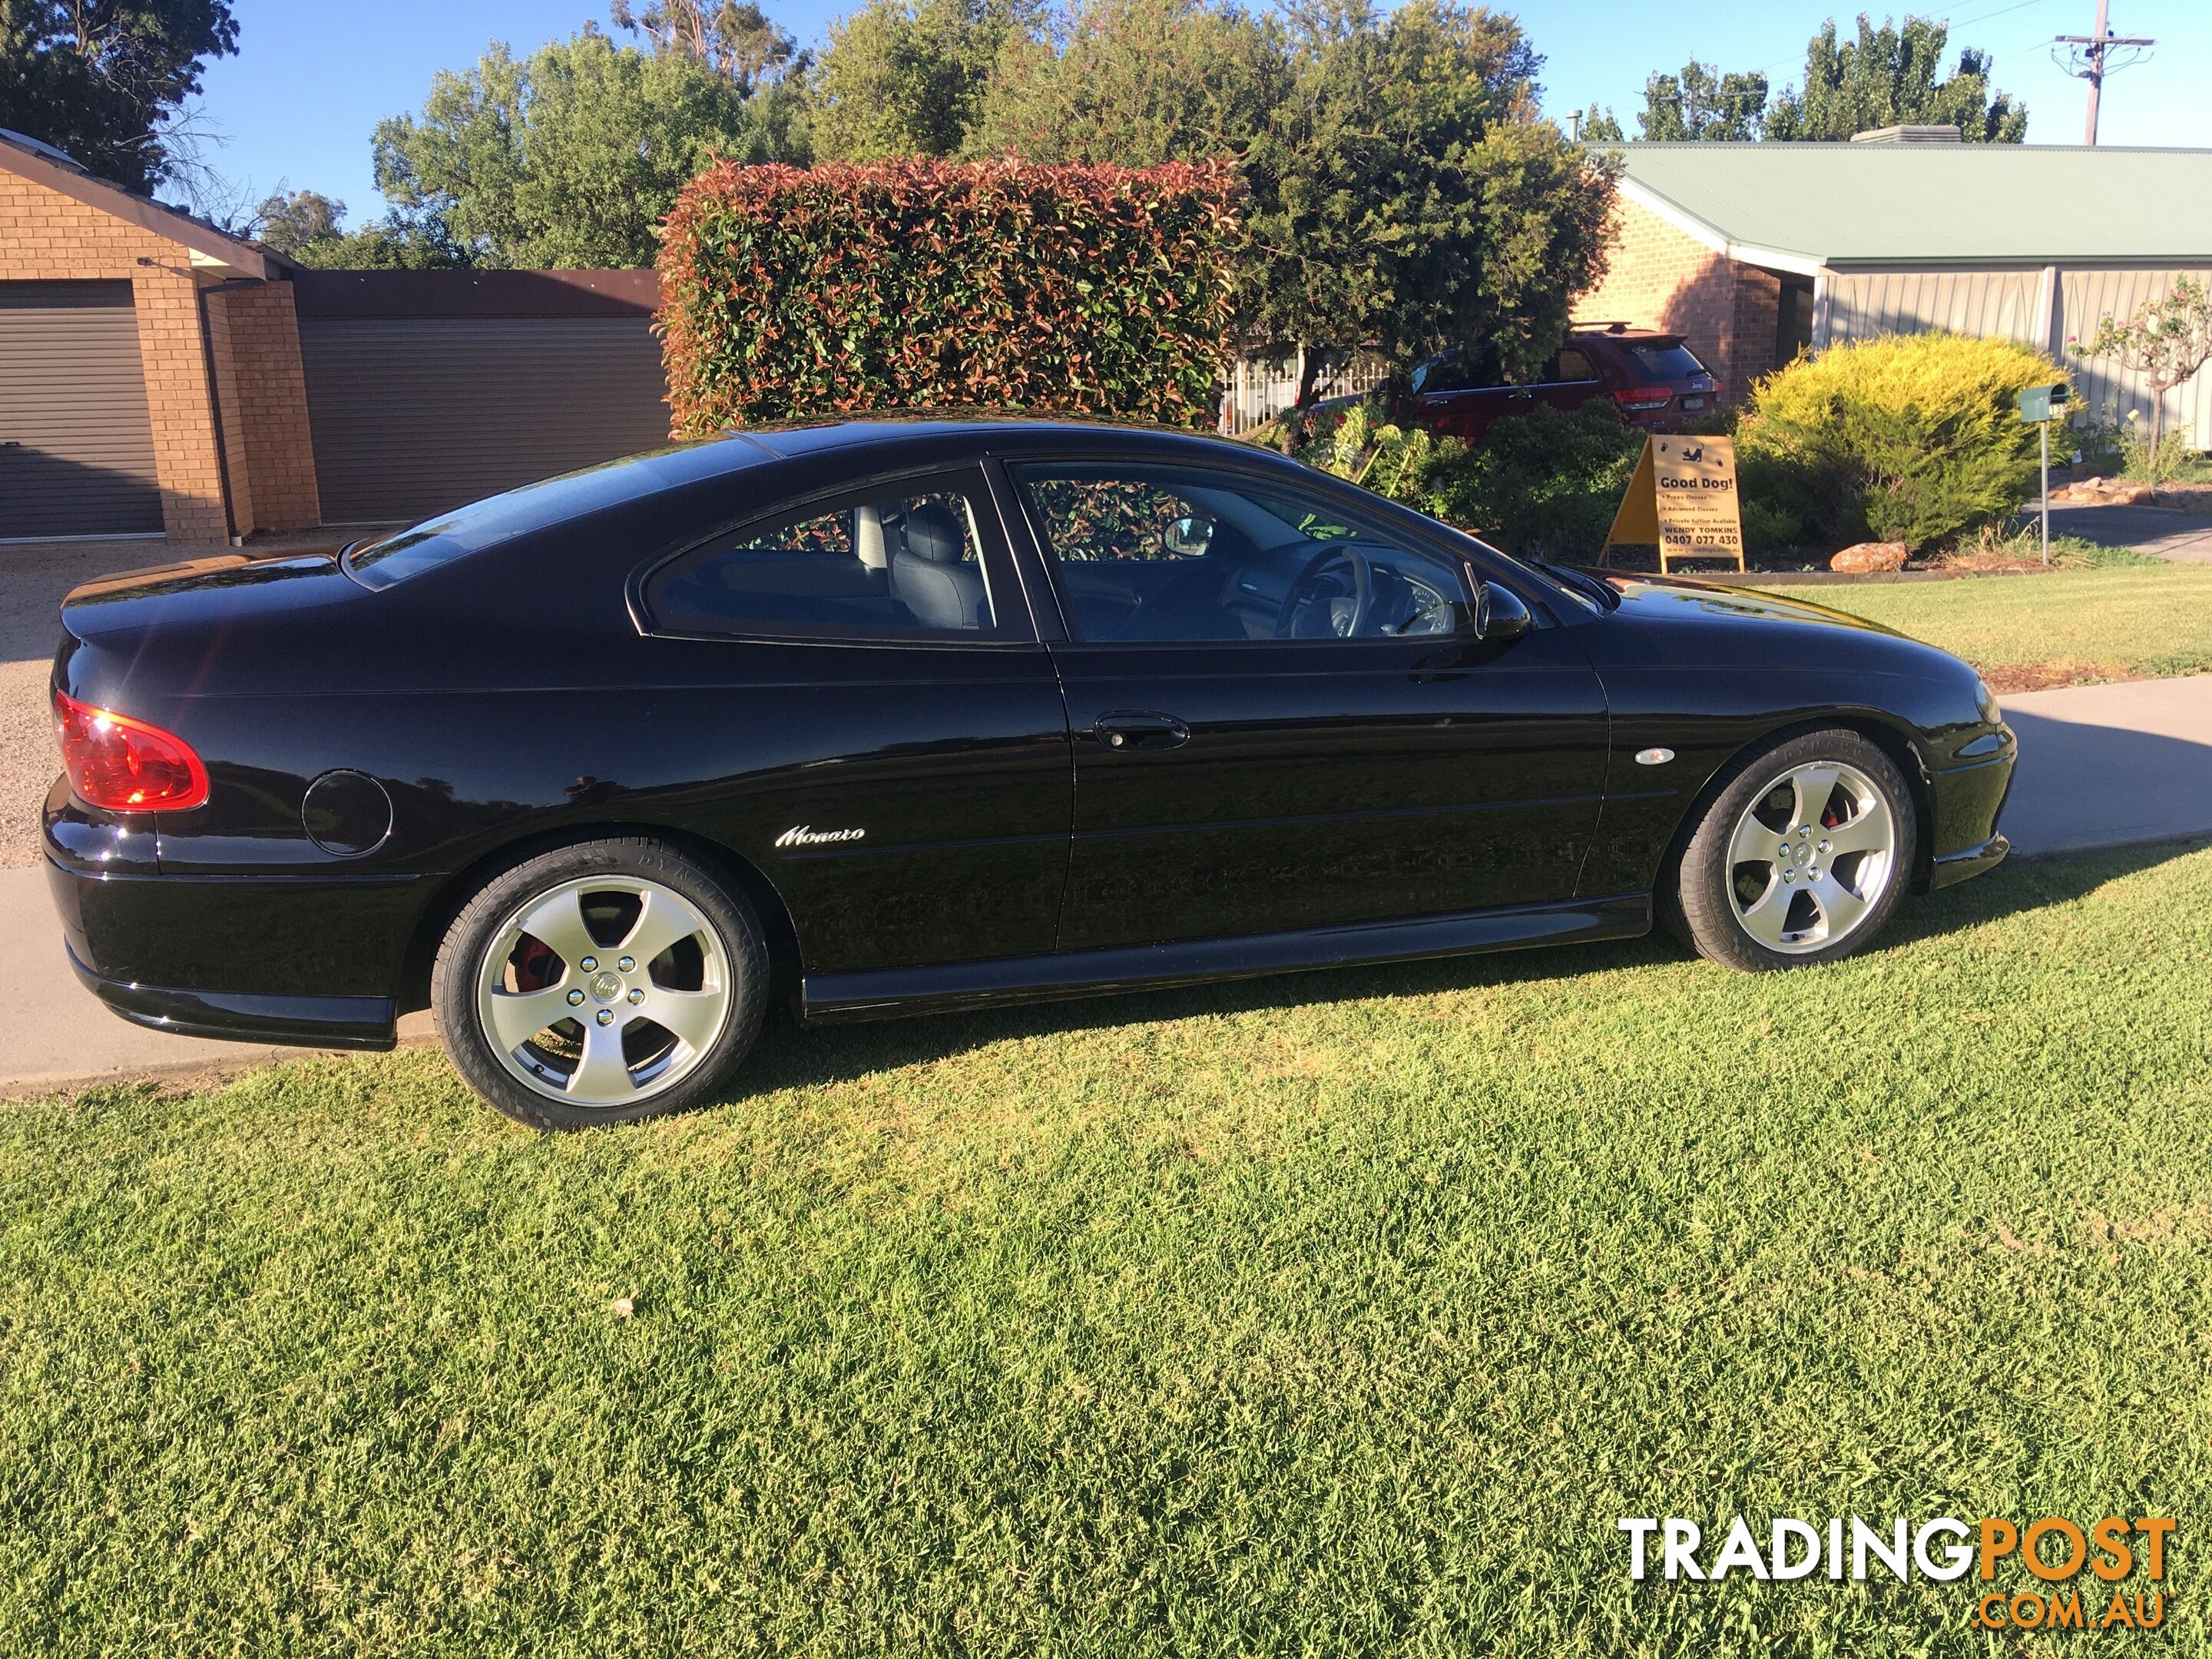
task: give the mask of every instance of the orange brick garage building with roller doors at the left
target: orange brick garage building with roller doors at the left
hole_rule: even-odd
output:
[[[301,270],[0,133],[0,542],[414,520],[666,442],[650,270]]]

